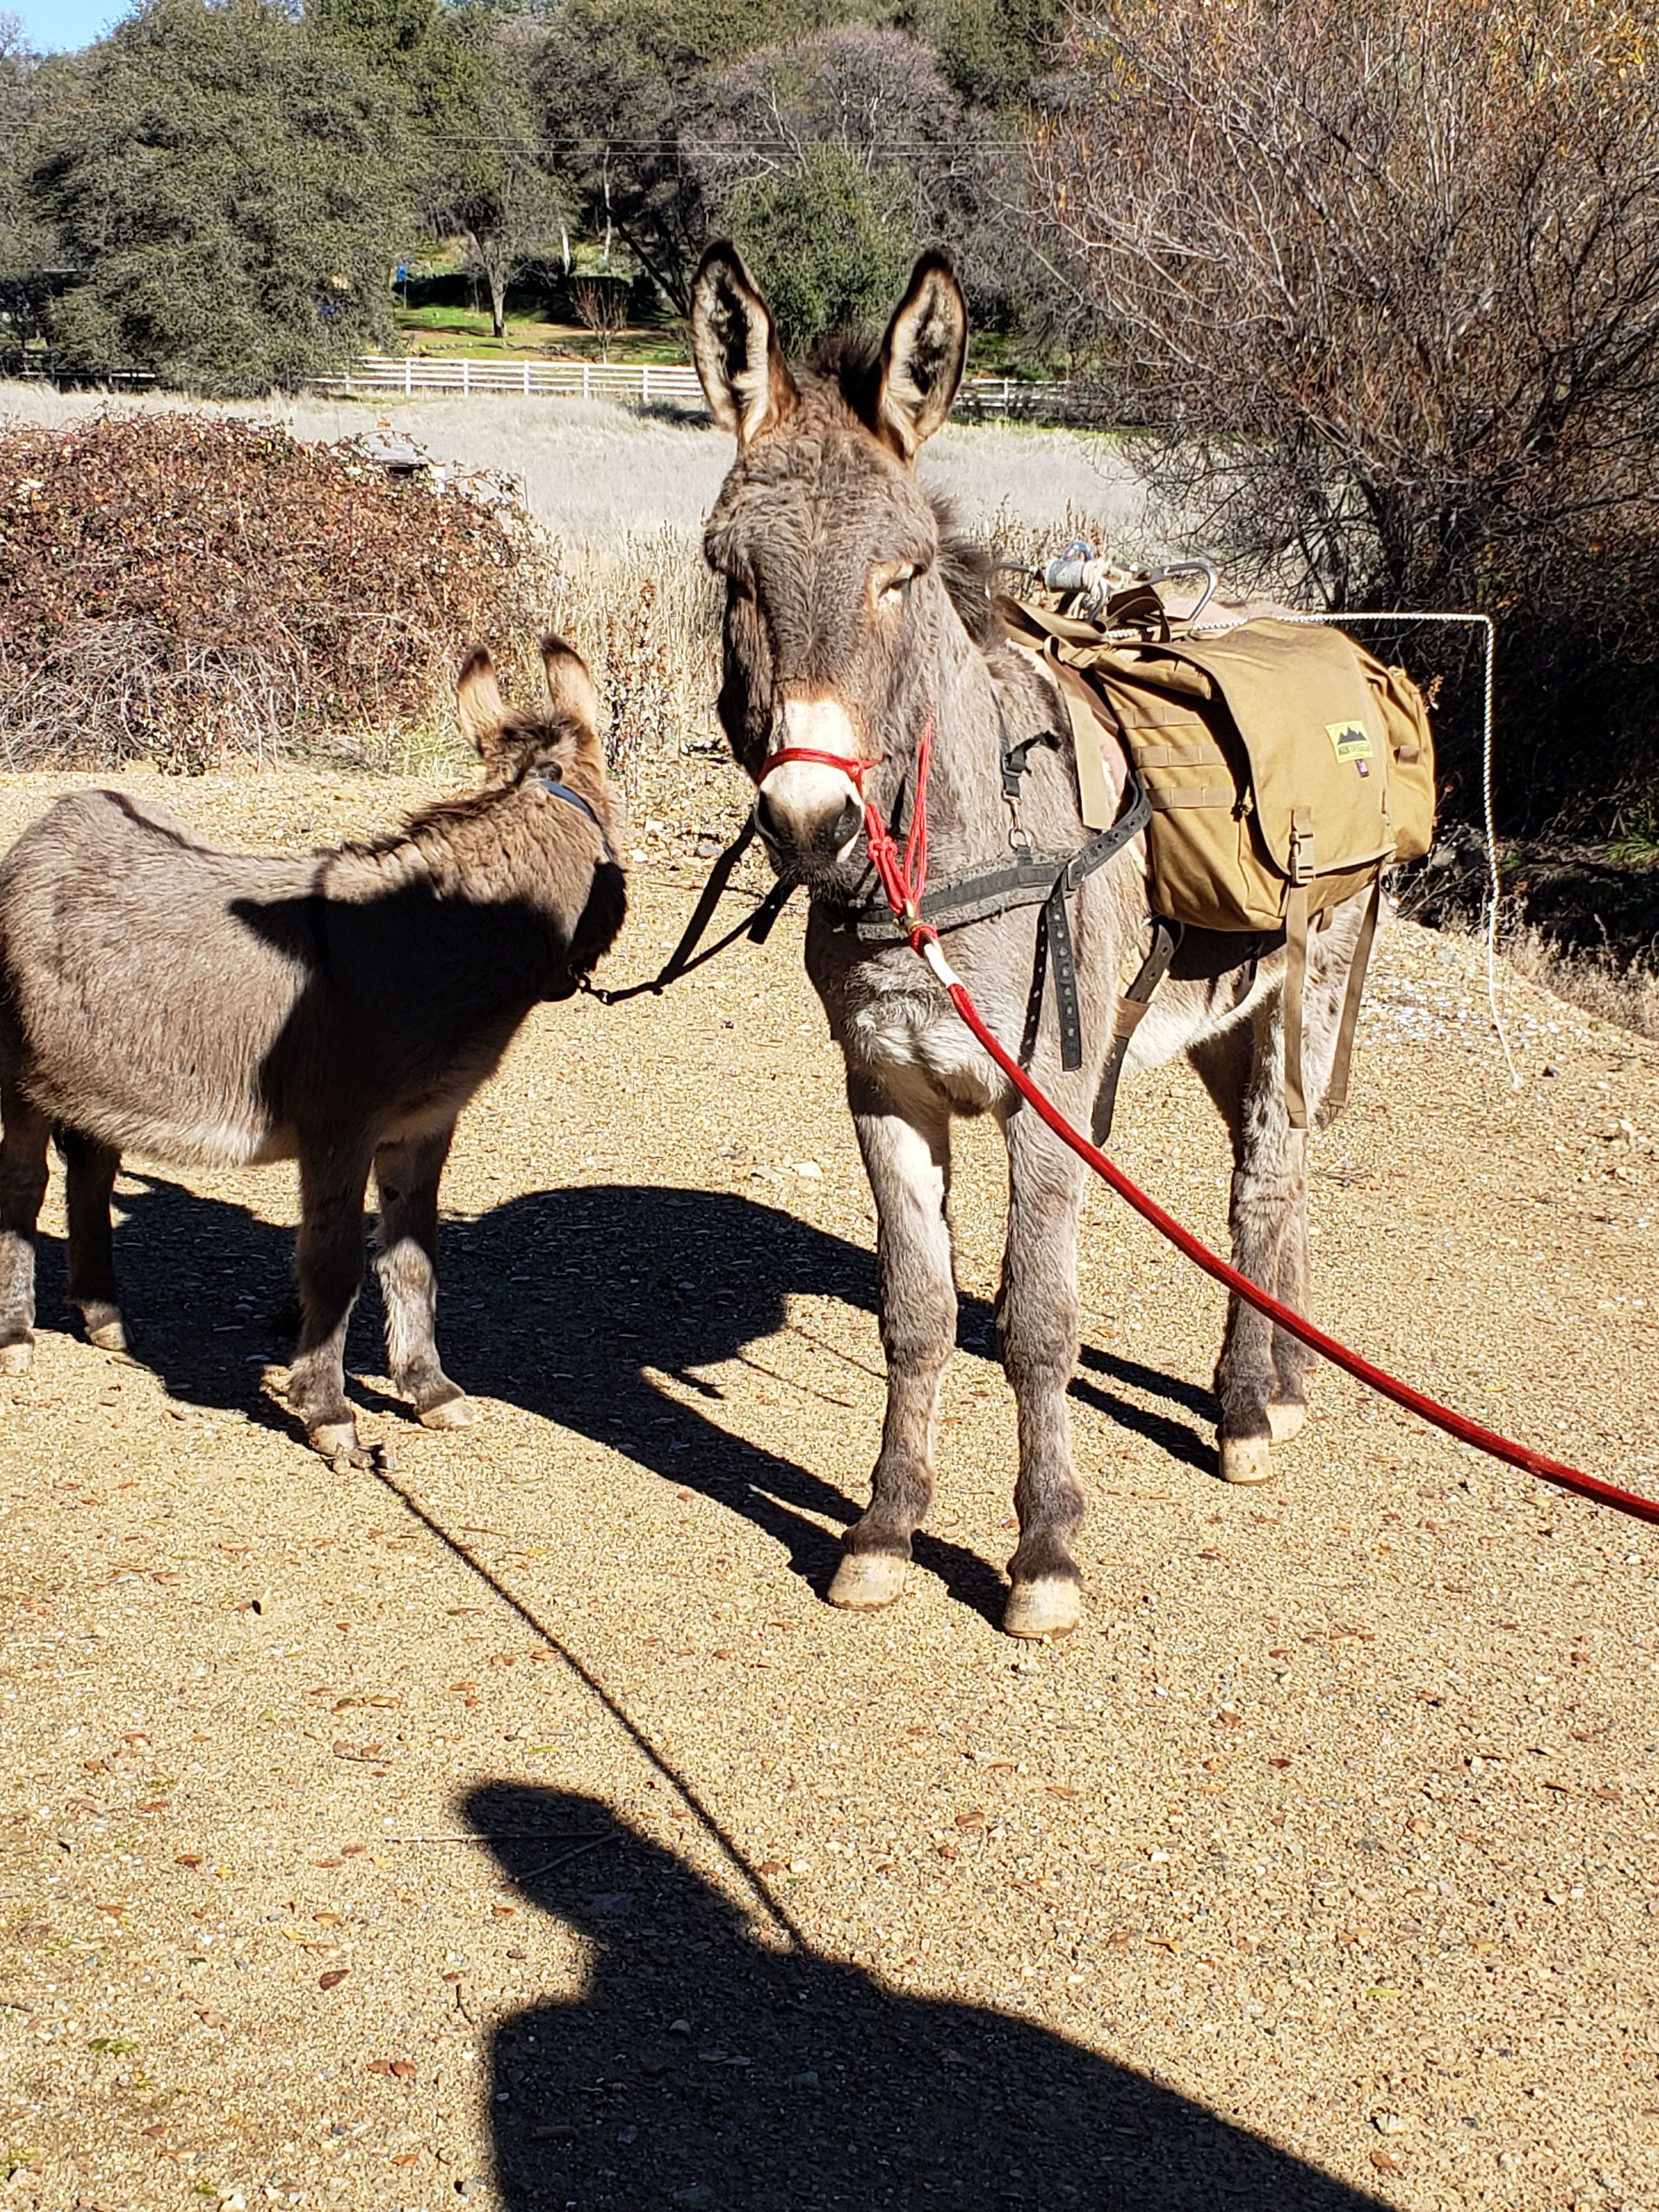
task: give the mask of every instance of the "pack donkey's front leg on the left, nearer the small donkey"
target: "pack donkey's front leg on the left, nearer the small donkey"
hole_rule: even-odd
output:
[[[847,1104],[876,1197],[887,1418],[869,1509],[843,1537],[847,1555],[830,1584],[830,1604],[867,1608],[891,1604],[905,1588],[909,1542],[933,1495],[933,1413],[956,1345],[956,1279],[945,1217],[951,1121],[927,1097],[900,1108],[867,1077],[852,1073]]]

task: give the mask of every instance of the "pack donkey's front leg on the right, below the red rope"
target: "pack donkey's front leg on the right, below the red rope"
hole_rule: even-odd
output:
[[[1002,1254],[998,1334],[1020,1416],[1013,1509],[1020,1548],[1009,1559],[1011,1637],[1064,1637],[1082,1615],[1073,1540],[1084,1493],[1071,1471],[1066,1391],[1077,1367],[1077,1217],[1084,1168],[1033,1113],[1004,1124],[1009,1243]]]

